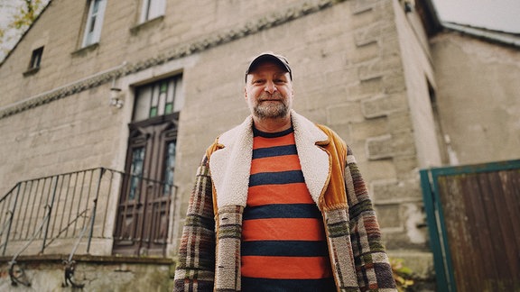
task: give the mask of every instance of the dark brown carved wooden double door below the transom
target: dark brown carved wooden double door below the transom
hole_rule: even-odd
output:
[[[176,123],[135,123],[130,132],[113,252],[164,256],[174,191]]]

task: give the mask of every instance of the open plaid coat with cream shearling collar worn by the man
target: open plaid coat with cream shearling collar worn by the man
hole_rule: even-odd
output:
[[[240,291],[242,214],[252,118],[206,152],[181,237],[175,291]],[[338,291],[396,291],[376,214],[350,149],[329,128],[292,111],[303,177],[323,215]]]

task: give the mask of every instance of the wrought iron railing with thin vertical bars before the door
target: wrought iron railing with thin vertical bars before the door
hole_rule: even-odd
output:
[[[140,220],[146,218],[144,214],[153,214],[155,221],[158,217],[170,218],[174,190],[174,186],[160,181],[104,168],[17,183],[0,198],[0,253],[13,256],[9,262],[13,283],[30,285],[16,263],[23,252],[30,255],[70,252],[64,262],[65,284],[70,281],[73,287],[81,287],[73,280],[72,258],[75,253],[89,254],[93,240],[116,240],[115,244],[124,240],[137,249],[150,239],[151,243],[165,244],[167,234],[161,232],[161,226]],[[133,199],[125,195],[130,191]],[[121,222],[129,219],[130,226]],[[135,233],[138,231],[135,226],[145,227],[141,235]],[[168,230],[168,226],[165,228]]]

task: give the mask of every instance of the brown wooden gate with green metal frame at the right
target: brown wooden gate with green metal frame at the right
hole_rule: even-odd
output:
[[[421,170],[439,291],[520,291],[520,160]]]

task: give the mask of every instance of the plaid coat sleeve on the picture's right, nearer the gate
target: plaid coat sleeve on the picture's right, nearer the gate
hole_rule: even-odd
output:
[[[359,288],[361,291],[397,291],[392,267],[381,240],[376,212],[349,147],[345,176],[346,181],[349,181],[347,194],[350,241]]]

